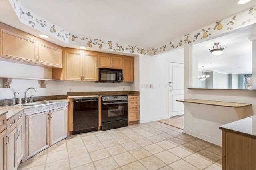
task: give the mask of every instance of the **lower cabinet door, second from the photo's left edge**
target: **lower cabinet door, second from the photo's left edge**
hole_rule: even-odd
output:
[[[6,166],[8,170],[16,170],[17,168],[16,137],[16,128],[13,129],[6,137]]]

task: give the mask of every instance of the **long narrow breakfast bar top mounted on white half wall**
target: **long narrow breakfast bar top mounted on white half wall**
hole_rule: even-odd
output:
[[[224,106],[224,107],[244,107],[244,106],[252,105],[252,104],[246,104],[246,103],[222,102],[222,101],[200,100],[200,99],[183,99],[183,100],[176,100],[176,101],[196,103],[196,104],[214,105],[214,106]]]

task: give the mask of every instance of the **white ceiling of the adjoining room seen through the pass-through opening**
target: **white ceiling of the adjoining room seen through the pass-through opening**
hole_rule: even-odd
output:
[[[226,35],[193,45],[193,57],[198,57],[198,70],[233,74],[252,74],[252,41],[256,38],[256,24]],[[225,46],[221,55],[212,55],[214,43]]]

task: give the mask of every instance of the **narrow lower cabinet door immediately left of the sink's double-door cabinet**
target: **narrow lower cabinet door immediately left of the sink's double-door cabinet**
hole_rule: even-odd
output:
[[[22,160],[22,157],[24,155],[24,145],[23,145],[23,141],[24,141],[24,133],[23,133],[23,123],[20,123],[17,126],[17,133],[18,133],[18,137],[16,139],[17,142],[17,159],[18,159],[18,164],[20,163],[20,161]]]

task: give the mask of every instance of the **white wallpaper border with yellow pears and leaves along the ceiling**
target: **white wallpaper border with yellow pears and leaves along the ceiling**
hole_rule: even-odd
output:
[[[177,39],[168,41],[158,47],[148,49],[127,45],[124,42],[113,42],[111,40],[95,39],[84,35],[75,35],[61,29],[54,23],[44,20],[44,18],[24,8],[20,0],[9,0],[20,21],[50,37],[54,37],[67,44],[84,46],[92,49],[106,49],[110,51],[120,51],[123,53],[134,53],[141,55],[158,55],[165,51],[180,48],[185,44],[194,43],[202,39],[221,35],[223,33],[245,27],[256,23],[256,7],[240,12],[234,16],[217,21],[206,27],[187,33]]]

